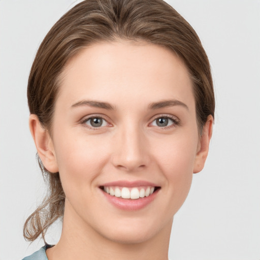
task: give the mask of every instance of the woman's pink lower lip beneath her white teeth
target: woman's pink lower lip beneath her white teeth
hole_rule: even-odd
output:
[[[127,210],[127,211],[134,211],[134,210],[140,210],[148,206],[156,197],[158,190],[155,190],[150,196],[139,198],[136,200],[131,199],[122,199],[117,198],[115,196],[109,195],[107,192],[103,191],[104,196],[107,198],[107,200],[114,205],[115,207],[121,209],[121,210]]]

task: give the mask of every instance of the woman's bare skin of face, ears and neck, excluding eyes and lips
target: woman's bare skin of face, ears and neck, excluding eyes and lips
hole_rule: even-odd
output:
[[[73,57],[61,79],[51,135],[36,115],[29,119],[38,154],[47,170],[60,173],[66,194],[62,235],[47,250],[49,260],[168,259],[173,216],[192,174],[204,167],[212,135],[212,116],[199,135],[185,64],[153,44],[99,43]],[[175,103],[151,109],[166,100]],[[94,129],[91,116],[106,121]],[[157,125],[167,117],[168,126]],[[160,189],[145,208],[125,211],[100,189],[116,180],[150,181]]]

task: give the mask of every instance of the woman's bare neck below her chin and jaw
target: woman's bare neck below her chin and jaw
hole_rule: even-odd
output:
[[[76,221],[75,215],[66,213],[65,209],[59,242],[46,251],[49,260],[168,259],[172,221],[148,240],[121,242],[104,237],[82,219]]]

